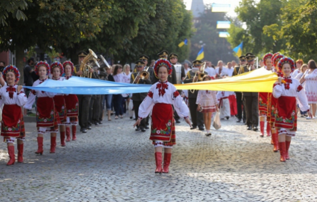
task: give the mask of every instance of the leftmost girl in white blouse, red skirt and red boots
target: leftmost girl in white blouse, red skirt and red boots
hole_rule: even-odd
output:
[[[3,69],[2,75],[6,83],[0,83],[0,106],[4,104],[1,120],[1,136],[7,144],[10,160],[6,165],[13,165],[15,162],[14,140],[17,139],[18,162],[23,162],[23,141],[25,139],[24,121],[21,106],[23,106],[27,98],[24,94],[22,86],[15,83],[20,78],[19,70],[12,65],[8,65]]]

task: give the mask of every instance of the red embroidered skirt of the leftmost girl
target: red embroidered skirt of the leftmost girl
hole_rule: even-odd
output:
[[[17,104],[4,104],[2,109],[1,136],[24,137],[24,121],[21,107]]]

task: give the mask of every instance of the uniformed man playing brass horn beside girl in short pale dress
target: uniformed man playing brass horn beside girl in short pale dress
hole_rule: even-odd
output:
[[[193,68],[199,68],[199,71],[197,72],[197,75],[200,73],[200,68],[202,66],[203,61],[201,60],[195,60],[193,61]],[[193,83],[193,82],[197,82],[198,77],[195,76],[196,73],[193,72],[193,69],[189,70],[187,72],[187,75],[185,77],[184,83]],[[207,72],[204,72],[204,74],[208,75]],[[193,93],[192,93],[193,92]],[[202,112],[197,111],[197,104],[196,104],[196,100],[197,100],[197,94],[198,91],[197,90],[188,90],[188,103],[189,103],[189,111],[190,111],[190,115],[192,117],[192,127],[190,128],[191,130],[197,128],[199,130],[204,130],[204,116]]]

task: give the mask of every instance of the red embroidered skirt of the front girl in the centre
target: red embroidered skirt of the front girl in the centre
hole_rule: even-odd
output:
[[[175,125],[171,104],[157,103],[152,110],[150,140],[163,141],[165,145],[175,145]]]

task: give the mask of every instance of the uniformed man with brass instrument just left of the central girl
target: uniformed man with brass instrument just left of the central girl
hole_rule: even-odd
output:
[[[146,80],[141,79],[139,72],[144,70],[144,62],[141,60],[138,60],[135,62],[135,68],[137,69],[137,72],[134,72],[131,74],[131,79],[130,79],[130,83],[133,83],[133,81],[135,80],[135,84],[151,84],[151,80],[150,77]],[[140,104],[142,103],[142,101],[147,97],[148,93],[134,93],[132,94],[132,101],[133,101],[133,107],[134,107],[134,113],[135,113],[135,117],[138,118],[139,117],[139,107]],[[137,129],[135,129],[136,131],[141,130],[142,132],[145,132],[146,128],[146,119],[142,119],[140,126],[137,126]]]

